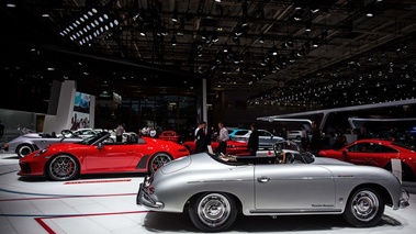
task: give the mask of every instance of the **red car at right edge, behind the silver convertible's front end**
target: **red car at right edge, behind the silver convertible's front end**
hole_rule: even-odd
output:
[[[359,140],[341,149],[323,149],[318,156],[330,157],[357,165],[370,165],[392,170],[391,159],[402,161],[402,179],[414,180],[416,152],[414,147],[386,140]]]

